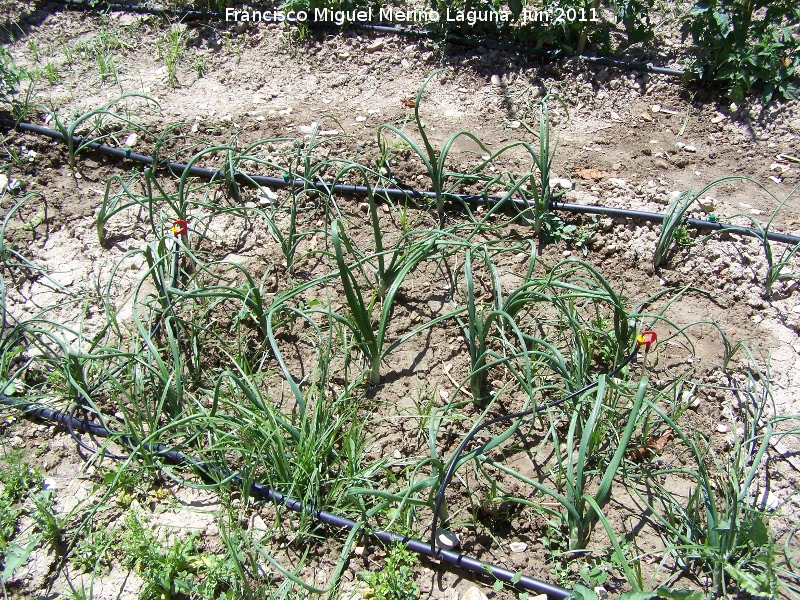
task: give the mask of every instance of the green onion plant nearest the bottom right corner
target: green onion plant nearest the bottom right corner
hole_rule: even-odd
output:
[[[689,451],[692,464],[648,474],[648,494],[633,490],[662,532],[666,551],[674,555],[680,567],[699,567],[709,573],[718,596],[734,587],[753,597],[772,598],[778,585],[776,571],[770,567],[776,552],[758,478],[774,433],[772,419],[761,416],[768,397],[764,394],[769,391],[761,387],[759,392],[759,387],[751,379],[743,390],[747,402],[739,417],[744,436],[734,436],[733,448],[724,460],[715,455],[710,440],[698,432],[685,431],[657,404],[648,401],[650,409]],[[694,488],[688,499],[684,501],[662,485],[660,476],[692,481]]]

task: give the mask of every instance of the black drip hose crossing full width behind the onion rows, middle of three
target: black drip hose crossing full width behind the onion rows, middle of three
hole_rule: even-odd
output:
[[[0,125],[11,129],[19,129],[29,133],[44,135],[52,139],[67,141],[65,136],[60,131],[42,127],[41,125],[34,125],[22,121],[13,121],[10,119],[0,119]],[[129,148],[114,148],[106,146],[97,142],[87,142],[80,136],[73,136],[73,143],[76,148],[91,148],[97,152],[115,156],[121,159],[129,159],[141,164],[155,166],[157,168],[169,169],[172,173],[180,175],[188,170],[189,175],[200,177],[203,179],[217,179],[224,178],[226,175],[223,169],[206,169],[203,167],[188,167],[183,163],[171,162],[167,160],[156,161],[152,157],[144,154],[137,154],[131,152]],[[367,196],[370,192],[378,196],[383,196],[389,199],[406,200],[406,199],[435,199],[436,193],[425,190],[414,190],[404,188],[386,188],[375,187],[367,188],[362,185],[350,185],[344,183],[331,184],[324,181],[309,182],[302,179],[292,179],[288,175],[285,177],[268,177],[265,175],[247,175],[245,173],[236,172],[234,178],[238,183],[265,185],[272,187],[291,187],[294,189],[309,189],[313,188],[323,193],[338,193],[349,196]],[[498,196],[476,195],[476,194],[447,194],[447,197],[452,200],[457,200],[467,204],[487,204],[494,205],[502,202],[514,204],[520,210],[527,210],[531,208],[530,203],[524,198],[500,198]],[[663,213],[646,212],[639,210],[629,210],[625,208],[610,208],[606,206],[595,206],[585,204],[572,204],[568,202],[559,202],[551,200],[549,204],[550,210],[560,210],[571,213],[594,214],[606,217],[625,217],[636,219],[639,221],[654,221],[661,223],[666,218]],[[786,233],[776,233],[773,231],[764,231],[753,227],[744,227],[740,225],[730,225],[720,221],[706,221],[703,219],[684,218],[683,222],[691,225],[699,230],[712,230],[712,231],[726,231],[741,236],[754,237],[758,239],[766,238],[772,242],[780,242],[789,245],[800,244],[800,237],[789,235]]]

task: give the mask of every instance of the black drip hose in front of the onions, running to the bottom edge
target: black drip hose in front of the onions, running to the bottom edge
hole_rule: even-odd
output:
[[[93,423],[88,419],[79,419],[71,414],[55,411],[39,404],[20,402],[18,399],[7,396],[4,393],[0,393],[0,404],[21,410],[27,417],[65,425],[73,432],[83,431],[93,436],[105,438],[118,436],[118,438],[125,443],[134,446],[137,445],[133,436],[114,433],[109,431],[104,426]],[[184,453],[171,449],[163,444],[144,443],[139,445],[147,451],[158,454],[162,459],[169,463],[191,465],[192,467],[196,468],[200,472],[200,475],[206,480],[210,479],[212,481],[218,481],[214,479],[213,475],[223,475],[222,479],[228,479],[233,484],[238,486],[244,485],[244,482],[240,476],[226,473],[223,469],[212,467],[204,461],[201,461],[195,457],[187,456]],[[252,483],[250,485],[250,493],[256,497],[263,498],[264,500],[283,505],[295,512],[306,513],[318,521],[333,527],[350,530],[357,527],[363,528],[363,525],[360,525],[356,521],[347,519],[341,515],[337,515],[326,510],[315,509],[311,506],[304,505],[299,500],[290,496],[285,496],[262,483]],[[509,571],[503,567],[485,563],[465,554],[460,554],[451,550],[443,550],[440,548],[436,548],[434,551],[431,551],[431,548],[428,546],[428,544],[422,540],[417,540],[408,536],[399,535],[397,533],[392,533],[390,531],[384,531],[381,529],[364,528],[364,531],[371,537],[376,538],[384,543],[405,544],[409,550],[412,550],[417,554],[434,559],[438,558],[444,562],[450,563],[473,573],[481,573],[484,575],[488,573],[503,582],[525,588],[526,590],[535,592],[537,594],[546,594],[548,598],[560,599],[568,598],[570,596],[570,592],[562,587],[549,584],[546,581],[529,577],[527,575],[520,577],[519,573],[516,573],[515,571]]]

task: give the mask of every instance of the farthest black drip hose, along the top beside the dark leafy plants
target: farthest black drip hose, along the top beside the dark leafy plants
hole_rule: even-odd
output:
[[[95,4],[86,0],[58,0],[58,1],[63,3],[67,8],[72,10],[104,9],[108,11],[152,14],[157,16],[180,17],[180,20],[184,22],[225,19],[224,13],[214,12],[214,11],[181,10],[177,8],[148,7],[148,6],[141,6],[138,4],[128,5],[115,2],[103,2]],[[328,27],[328,28],[335,27],[339,29],[342,27],[341,25],[337,25],[336,23],[332,23],[330,21],[317,21],[314,19],[306,19],[303,21],[299,21],[294,18],[285,18],[285,17],[281,18],[280,16],[275,16],[275,14],[271,13],[270,11],[263,11],[261,16],[262,16],[261,21],[264,23],[273,23],[273,24],[280,24],[284,22],[292,24],[300,23],[302,25],[308,25],[313,27]],[[347,27],[352,29],[358,29],[361,31],[370,31],[373,33],[381,33],[388,35],[405,35],[417,38],[428,38],[435,33],[425,29],[404,28],[404,27],[396,27],[393,25],[375,25],[373,23],[364,23],[358,21],[348,22]],[[544,48],[531,48],[530,46],[524,46],[521,44],[512,44],[509,42],[503,42],[490,38],[477,38],[477,37],[470,37],[463,35],[446,34],[445,39],[448,42],[460,44],[462,46],[469,46],[472,48],[493,48],[497,50],[518,52],[520,54],[536,56],[538,58],[548,61],[556,61],[562,58],[573,58],[584,61],[590,65],[614,67],[617,69],[640,71],[644,73],[654,73],[658,75],[669,75],[671,77],[683,77],[685,74],[685,71],[683,69],[660,67],[657,65],[653,65],[652,63],[629,61],[621,58],[616,58],[613,56],[587,56],[584,54],[570,55],[564,53],[561,50],[546,50]]]

